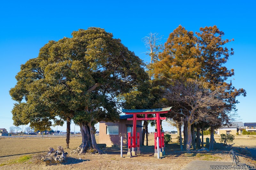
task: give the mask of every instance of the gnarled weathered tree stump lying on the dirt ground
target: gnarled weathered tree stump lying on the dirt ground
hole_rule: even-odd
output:
[[[48,148],[49,152],[46,156],[42,157],[41,160],[43,160],[47,165],[56,165],[64,162],[67,158],[67,152],[64,152],[62,146],[58,146],[57,150],[54,150],[53,148]]]

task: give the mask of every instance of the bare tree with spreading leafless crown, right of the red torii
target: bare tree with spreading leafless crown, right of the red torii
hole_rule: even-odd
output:
[[[180,114],[188,124],[187,153],[190,153],[192,142],[191,125],[201,117],[209,119],[212,114],[224,111],[225,102],[222,99],[225,89],[221,86],[216,87],[215,90],[207,87],[208,83],[204,81],[188,79],[185,82],[175,81],[174,85],[170,85],[165,91],[164,98],[173,106],[180,108]]]

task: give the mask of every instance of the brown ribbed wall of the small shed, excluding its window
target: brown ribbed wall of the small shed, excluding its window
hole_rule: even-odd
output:
[[[126,124],[132,124],[132,120],[120,119],[116,122],[100,122],[100,144],[106,144],[107,146],[120,146],[121,145],[121,136],[123,136],[123,146],[127,145],[127,126]],[[142,121],[137,121],[137,125],[141,125]],[[115,126],[118,125],[119,135],[107,135],[107,125]],[[140,146],[142,145],[142,128],[137,127],[137,132],[140,132]]]

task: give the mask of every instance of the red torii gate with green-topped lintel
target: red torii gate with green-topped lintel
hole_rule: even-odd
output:
[[[133,110],[133,109],[123,109],[122,111],[125,114],[128,115],[133,115],[132,118],[127,118],[127,120],[133,120],[133,131],[132,134],[133,136],[128,137],[127,141],[128,141],[128,152],[127,155],[128,156],[134,156],[137,155],[137,152],[139,152],[138,154],[140,154],[140,142],[137,142],[136,145],[136,138],[139,139],[139,135],[137,135],[136,133],[136,125],[137,125],[137,120],[156,120],[156,129],[157,129],[157,134],[155,135],[155,154],[154,156],[157,157],[156,154],[156,137],[159,137],[159,149],[162,155],[162,135],[161,135],[161,127],[160,127],[160,120],[166,120],[166,117],[160,117],[160,114],[163,113],[167,113],[168,111],[171,111],[172,107],[168,107],[168,108],[160,108],[160,109],[140,109],[140,110]],[[148,114],[156,114],[156,117],[148,117]],[[145,118],[139,118],[137,117],[137,115],[145,115]],[[130,134],[128,134],[130,135]],[[132,138],[132,145],[131,145],[131,139]],[[138,140],[139,141],[139,140]],[[135,148],[138,148],[137,152],[135,151]],[[132,148],[132,152],[131,152],[131,148]]]

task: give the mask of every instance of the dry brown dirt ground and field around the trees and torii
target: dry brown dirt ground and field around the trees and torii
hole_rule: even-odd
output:
[[[121,158],[120,148],[103,148],[107,154],[71,154],[81,144],[81,137],[70,138],[70,149],[67,161],[59,165],[46,165],[39,160],[40,156],[46,155],[48,147],[66,146],[65,137],[48,138],[0,138],[0,169],[181,169],[192,160],[215,160],[228,161],[228,149],[219,142],[219,135],[214,136],[214,152],[193,151],[190,154],[180,152],[180,145],[176,143],[177,135],[172,135],[172,143],[165,146],[166,156],[156,159],[154,155],[154,136],[149,135],[149,146],[142,146],[141,155],[133,158]],[[204,135],[205,138],[210,136]],[[96,137],[98,141],[98,136]],[[236,152],[240,162],[250,166],[256,166],[256,161],[244,147],[256,147],[256,136],[235,136]],[[146,142],[145,142],[146,144]],[[124,148],[126,156],[127,148]],[[26,158],[26,159],[25,159]]]

